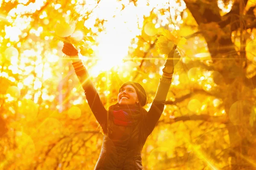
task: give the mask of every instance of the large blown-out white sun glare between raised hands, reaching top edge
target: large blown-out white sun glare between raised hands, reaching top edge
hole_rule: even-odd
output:
[[[111,3],[111,6],[108,5],[109,3]],[[166,7],[167,3],[167,0],[141,0],[137,2],[137,6],[134,6],[134,3],[128,0],[122,0],[120,2],[116,0],[102,0],[98,5],[96,5],[96,1],[93,0],[88,1],[85,5],[80,5],[79,2],[77,2],[76,11],[81,15],[91,11],[93,6],[95,7],[93,14],[90,15],[84,23],[85,27],[98,34],[96,42],[98,42],[99,45],[95,49],[94,55],[99,60],[97,64],[91,68],[90,72],[93,73],[92,76],[95,77],[101,71],[109,71],[114,66],[120,65],[123,58],[128,57],[128,49],[131,40],[141,34],[144,17],[148,17],[152,8],[156,6],[157,9],[168,8],[168,6]],[[175,4],[174,1],[171,3],[171,6]],[[125,8],[122,8],[122,5],[124,5]],[[161,14],[159,14],[158,17],[161,17]],[[103,27],[105,29],[101,32],[99,32],[98,28],[95,26],[97,18],[104,20],[102,25],[104,24]],[[152,26],[148,25],[147,28],[157,28],[156,26],[154,26],[154,24]],[[148,34],[156,34],[154,29],[153,31],[148,31],[147,28],[146,32]]]

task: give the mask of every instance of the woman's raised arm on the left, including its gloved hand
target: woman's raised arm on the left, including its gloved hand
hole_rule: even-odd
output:
[[[69,55],[72,58],[72,65],[75,69],[76,75],[81,83],[87,102],[96,117],[99,124],[102,126],[107,123],[107,110],[105,109],[93,82],[90,80],[88,72],[84,67],[82,61],[78,57],[78,51],[73,47],[72,44],[64,42],[62,49],[63,53]]]

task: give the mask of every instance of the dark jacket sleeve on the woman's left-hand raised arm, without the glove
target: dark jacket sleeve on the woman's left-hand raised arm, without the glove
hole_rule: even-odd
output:
[[[84,89],[84,94],[86,96],[90,109],[93,112],[99,124],[102,126],[107,122],[107,110],[102,104],[99,94],[96,91],[93,82],[90,80],[87,70],[84,67],[81,60],[78,62],[73,62],[72,65],[75,69],[79,82],[81,83]]]

